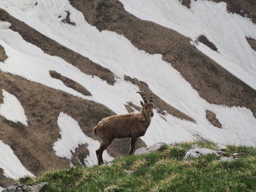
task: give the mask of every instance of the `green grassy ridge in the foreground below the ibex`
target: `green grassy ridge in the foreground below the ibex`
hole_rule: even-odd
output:
[[[23,177],[20,183],[48,182],[48,191],[256,191],[256,149],[228,146],[227,153],[244,153],[235,161],[217,155],[182,160],[192,143],[162,146],[148,155],[127,155],[111,166],[75,167]],[[214,148],[210,142],[195,143]],[[132,170],[127,175],[126,170]],[[108,188],[108,190],[106,190]]]

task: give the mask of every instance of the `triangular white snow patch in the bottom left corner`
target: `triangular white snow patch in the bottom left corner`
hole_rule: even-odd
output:
[[[20,177],[29,175],[34,177],[20,162],[9,145],[0,140],[0,168],[4,170],[4,176],[18,180]]]

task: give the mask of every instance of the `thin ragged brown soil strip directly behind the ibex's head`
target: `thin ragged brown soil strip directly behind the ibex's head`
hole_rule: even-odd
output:
[[[124,80],[127,80],[129,82],[132,82],[134,85],[137,85],[140,88],[140,91],[142,93],[146,93],[148,96],[152,93],[152,96],[156,100],[157,112],[162,113],[163,111],[167,111],[170,115],[173,115],[176,118],[180,118],[182,120],[189,120],[189,121],[195,123],[194,119],[192,119],[188,115],[184,114],[184,112],[177,110],[175,107],[170,106],[170,104],[167,104],[165,101],[160,99],[159,96],[154,94],[150,90],[150,88],[148,88],[148,84],[146,84],[146,82],[139,81],[135,78],[132,79],[131,77],[128,77],[128,76],[125,76]]]

